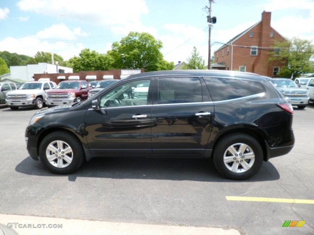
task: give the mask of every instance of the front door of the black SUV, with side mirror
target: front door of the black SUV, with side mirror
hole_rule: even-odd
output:
[[[129,81],[113,86],[97,96],[98,108],[85,117],[87,142],[92,154],[151,153],[151,88],[146,96],[135,98],[133,90],[150,79]],[[96,98],[91,98],[96,99]]]

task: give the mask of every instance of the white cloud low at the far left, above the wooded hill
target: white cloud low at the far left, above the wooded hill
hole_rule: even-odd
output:
[[[81,40],[77,39],[86,35],[80,28],[71,30],[64,24],[57,24],[35,35],[18,39],[7,37],[0,41],[0,51],[7,50],[29,56],[34,56],[37,51],[54,52],[68,60],[84,49]]]

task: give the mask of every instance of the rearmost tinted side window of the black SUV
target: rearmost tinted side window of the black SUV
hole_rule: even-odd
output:
[[[204,77],[213,101],[223,101],[252,96],[265,92],[258,81],[239,78]]]

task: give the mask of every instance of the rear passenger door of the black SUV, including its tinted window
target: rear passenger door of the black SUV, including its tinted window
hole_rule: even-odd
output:
[[[200,77],[155,78],[152,149],[155,154],[204,154],[214,104]]]

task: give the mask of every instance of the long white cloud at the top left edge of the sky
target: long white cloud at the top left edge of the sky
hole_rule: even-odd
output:
[[[17,6],[22,11],[100,25],[136,23],[148,13],[144,0],[21,0]]]

